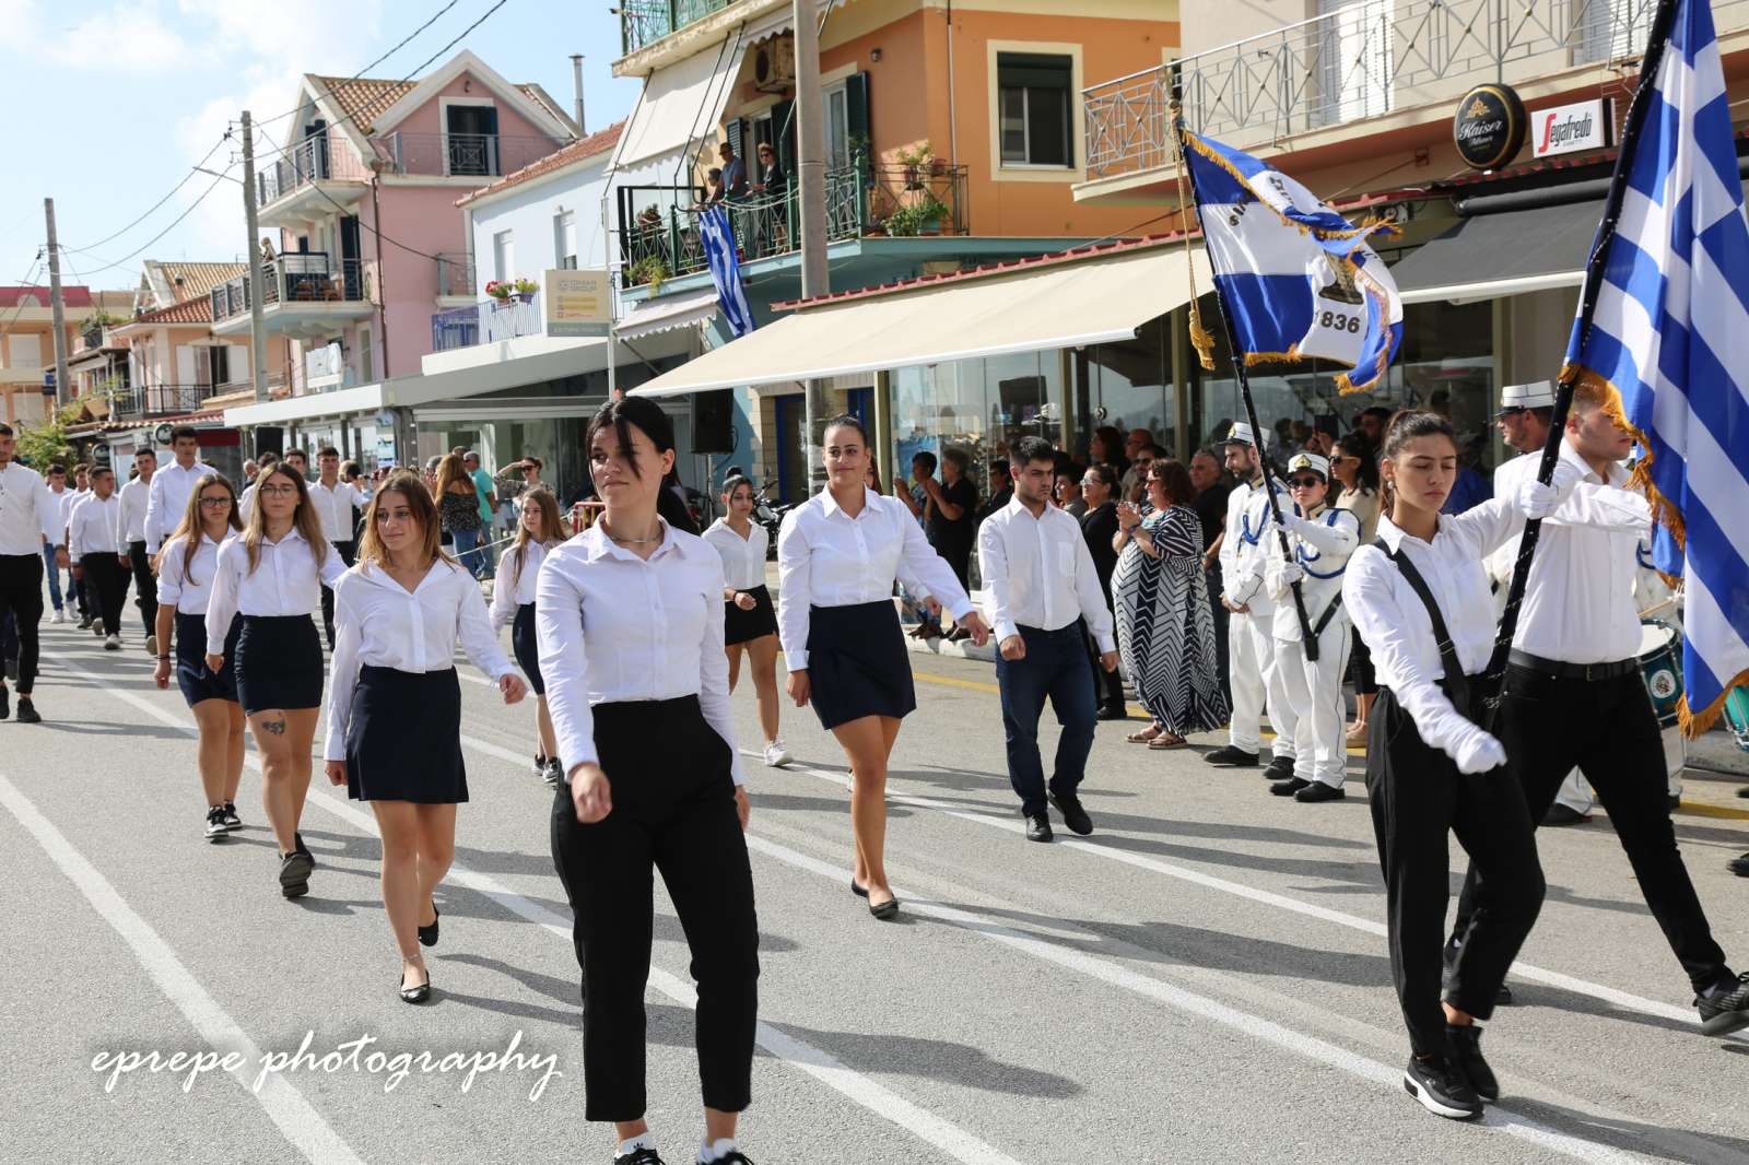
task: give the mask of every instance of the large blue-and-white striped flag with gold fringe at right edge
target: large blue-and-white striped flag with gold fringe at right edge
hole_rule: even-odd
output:
[[[1704,731],[1749,682],[1749,222],[1707,0],[1663,0],[1616,161],[1621,212],[1592,268],[1567,376],[1620,395],[1641,446],[1635,483],[1658,528],[1653,562],[1683,576],[1683,728]],[[1651,61],[1656,54],[1656,66]],[[1648,89],[1649,86],[1649,89]]]

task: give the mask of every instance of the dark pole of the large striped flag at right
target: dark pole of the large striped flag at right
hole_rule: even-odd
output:
[[[1604,285],[1604,264],[1609,257],[1609,243],[1616,236],[1616,224],[1621,219],[1621,199],[1627,194],[1627,170],[1632,164],[1634,143],[1646,124],[1646,110],[1651,105],[1651,91],[1658,82],[1658,68],[1663,65],[1663,49],[1670,42],[1670,24],[1676,21],[1677,0],[1658,0],[1658,12],[1651,21],[1651,33],[1646,40],[1646,56],[1641,59],[1641,80],[1634,89],[1634,103],[1628,105],[1628,119],[1621,126],[1621,147],[1616,150],[1614,177],[1609,180],[1609,194],[1604,199],[1604,217],[1597,227],[1597,240],[1592,243],[1592,257],[1585,264],[1585,289],[1579,292],[1579,315],[1576,331],[1579,334],[1578,350],[1585,350],[1590,339],[1592,317],[1597,313],[1597,294]],[[1543,462],[1537,465],[1536,479],[1548,485],[1555,478],[1555,462],[1560,460],[1560,444],[1567,436],[1567,413],[1572,408],[1572,390],[1579,383],[1576,366],[1562,369],[1555,387],[1555,409],[1548,418],[1548,441],[1543,443]],[[1488,658],[1485,691],[1488,710],[1499,710],[1506,698],[1506,658],[1513,649],[1513,637],[1518,631],[1518,607],[1523,602],[1525,586],[1530,581],[1530,560],[1536,556],[1537,541],[1543,537],[1543,520],[1525,523],[1523,537],[1518,542],[1518,562],[1513,563],[1513,581],[1506,589],[1506,612],[1501,616],[1501,630],[1494,640],[1494,654]]]

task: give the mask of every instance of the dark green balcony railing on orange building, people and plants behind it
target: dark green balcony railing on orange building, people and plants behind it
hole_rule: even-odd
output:
[[[621,283],[638,287],[708,268],[698,236],[705,192],[696,187],[628,185],[619,194]],[[726,201],[740,261],[757,262],[801,248],[799,192]],[[826,238],[868,234],[965,234],[965,166],[895,166],[826,173]]]

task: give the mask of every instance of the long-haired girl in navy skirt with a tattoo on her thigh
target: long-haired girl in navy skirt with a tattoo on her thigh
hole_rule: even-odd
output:
[[[255,513],[219,548],[206,603],[206,666],[236,668],[236,696],[261,752],[261,805],[280,845],[280,894],[310,892],[315,857],[297,833],[322,708],[322,640],[310,614],[346,563],[322,535],[304,479],[285,462],[255,478]],[[213,651],[243,616],[231,661]]]

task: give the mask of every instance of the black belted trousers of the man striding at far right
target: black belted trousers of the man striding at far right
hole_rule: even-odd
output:
[[[1609,810],[1646,906],[1690,983],[1704,992],[1733,980],[1676,847],[1665,799],[1663,736],[1639,668],[1607,680],[1583,680],[1511,665],[1497,728],[1532,824],[1543,820],[1560,782],[1578,766]],[[1490,878],[1471,866],[1457,899],[1457,925],[1492,899]]]

